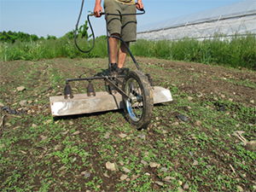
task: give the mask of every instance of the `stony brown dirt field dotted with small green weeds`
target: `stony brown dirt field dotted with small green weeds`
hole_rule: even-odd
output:
[[[256,190],[256,73],[141,57],[137,62],[173,96],[154,106],[151,124],[141,131],[123,111],[51,117],[49,96],[63,94],[67,78],[107,75],[108,59],[0,62],[1,188]],[[131,58],[125,67],[136,69]],[[105,90],[103,81],[93,83]],[[85,82],[71,85],[74,94],[86,91]]]

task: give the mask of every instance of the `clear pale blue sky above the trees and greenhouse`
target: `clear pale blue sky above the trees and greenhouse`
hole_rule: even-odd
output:
[[[137,16],[137,25],[146,25],[238,2],[241,0],[143,0],[146,14]],[[75,28],[81,3],[82,0],[0,0],[0,32],[26,32],[36,34],[39,38],[46,38],[47,35],[60,38]],[[79,26],[84,25],[94,5],[95,0],[84,0]],[[106,35],[103,16],[90,17],[90,21],[96,37]]]

